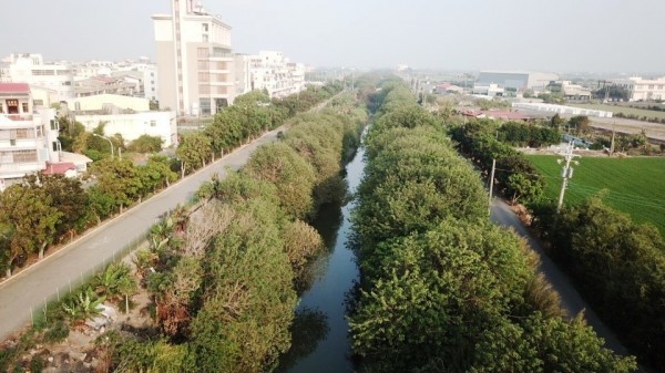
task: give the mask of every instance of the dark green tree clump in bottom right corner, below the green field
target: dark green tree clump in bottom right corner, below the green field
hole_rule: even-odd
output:
[[[534,211],[532,225],[552,245],[596,312],[634,349],[642,361],[665,366],[665,241],[651,225],[592,197],[565,208]],[[556,227],[555,229],[553,227]]]

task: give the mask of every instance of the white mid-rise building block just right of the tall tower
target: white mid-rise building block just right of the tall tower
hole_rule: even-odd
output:
[[[252,90],[266,90],[270,97],[285,97],[305,87],[305,65],[290,63],[284,53],[259,51],[249,56]]]

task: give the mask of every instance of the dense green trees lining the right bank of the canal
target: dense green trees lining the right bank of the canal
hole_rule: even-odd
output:
[[[440,118],[400,81],[376,92],[354,211],[349,317],[365,372],[630,372],[582,317],[562,317],[538,259],[487,219],[487,195]]]

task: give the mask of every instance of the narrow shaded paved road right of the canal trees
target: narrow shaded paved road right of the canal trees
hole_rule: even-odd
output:
[[[582,310],[584,310],[584,318],[587,323],[593,327],[596,334],[605,340],[605,345],[618,354],[628,355],[627,349],[621,344],[616,335],[598,319],[597,314],[591,309],[591,307],[582,299],[577,290],[573,287],[556,265],[550,259],[542,246],[533,239],[531,234],[524,228],[520,219],[512,213],[510,206],[503,200],[494,198],[492,204],[492,221],[498,225],[513,228],[514,231],[526,239],[529,245],[535,252],[539,253],[541,259],[540,271],[546,277],[548,281],[552,284],[554,290],[561,296],[561,303],[569,315],[574,317]]]

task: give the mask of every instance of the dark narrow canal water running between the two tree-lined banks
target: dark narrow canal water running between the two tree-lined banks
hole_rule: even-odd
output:
[[[349,191],[362,179],[365,149],[361,146],[346,166]],[[293,345],[280,361],[277,372],[346,373],[354,372],[351,344],[346,321],[346,299],[358,281],[356,256],[347,247],[354,201],[346,206],[325,206],[314,226],[327,250],[316,262],[315,280],[300,297],[291,328]]]

